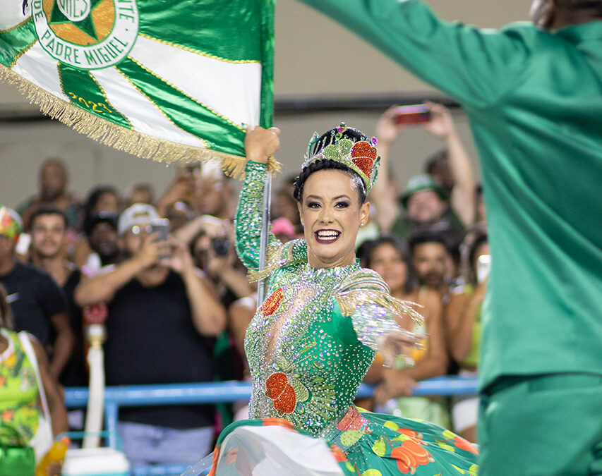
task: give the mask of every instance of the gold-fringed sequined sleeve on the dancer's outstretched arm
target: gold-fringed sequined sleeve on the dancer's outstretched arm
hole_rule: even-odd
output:
[[[422,322],[422,316],[411,303],[393,298],[385,281],[369,269],[360,269],[342,283],[337,303],[351,324],[358,340],[378,350],[378,338],[399,330],[395,316],[407,316]]]

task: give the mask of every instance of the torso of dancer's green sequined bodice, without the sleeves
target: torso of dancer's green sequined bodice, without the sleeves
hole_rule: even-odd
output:
[[[275,273],[245,338],[251,418],[284,417],[320,434],[347,412],[374,356],[335,300],[358,269],[294,265]]]

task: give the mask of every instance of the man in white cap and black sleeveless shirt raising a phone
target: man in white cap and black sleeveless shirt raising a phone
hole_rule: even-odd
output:
[[[186,246],[158,240],[155,208],[135,204],[119,217],[126,260],[86,279],[76,290],[81,306],[107,303],[107,384],[208,382],[213,379],[212,337],[224,329],[215,288],[195,268]],[[156,226],[155,226],[156,228]],[[169,255],[160,260],[162,255]],[[193,463],[212,441],[210,405],[121,410],[119,433],[134,466]]]

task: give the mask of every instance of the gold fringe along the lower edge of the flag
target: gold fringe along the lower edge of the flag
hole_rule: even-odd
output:
[[[152,159],[169,164],[176,161],[215,161],[219,163],[226,175],[235,178],[242,178],[243,176],[247,162],[245,157],[217,152],[212,149],[203,149],[202,147],[183,145],[171,140],[139,133],[136,130],[126,129],[54,96],[1,64],[0,79],[17,85],[19,91],[25,94],[31,103],[35,103],[40,107],[42,114],[57,119],[78,133],[87,135],[104,145],[109,145],[143,159]],[[270,157],[267,161],[267,170],[275,175],[281,169],[282,165],[274,157]]]

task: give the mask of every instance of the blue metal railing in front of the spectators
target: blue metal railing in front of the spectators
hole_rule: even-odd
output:
[[[373,386],[361,384],[359,397],[372,396]],[[450,396],[476,393],[477,382],[469,377],[437,377],[423,380],[413,389],[414,396]],[[67,408],[84,408],[88,405],[87,387],[65,389]],[[251,384],[248,382],[203,382],[198,384],[162,384],[109,386],[104,389],[104,429],[109,432],[109,446],[116,447],[119,408],[151,405],[183,405],[194,403],[222,403],[248,400]],[[145,466],[135,468],[133,474],[178,475],[186,466]]]

